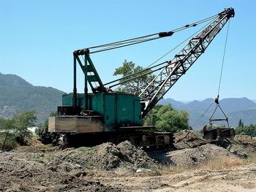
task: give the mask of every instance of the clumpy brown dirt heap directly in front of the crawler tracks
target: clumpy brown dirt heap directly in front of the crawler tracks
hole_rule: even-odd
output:
[[[135,171],[141,167],[157,167],[157,164],[143,150],[127,141],[118,145],[107,142],[96,147],[62,150],[56,153],[50,164],[59,166],[64,161],[89,169],[110,170],[126,167]]]

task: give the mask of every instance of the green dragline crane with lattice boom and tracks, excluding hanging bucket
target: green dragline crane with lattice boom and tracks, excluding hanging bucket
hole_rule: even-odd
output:
[[[73,144],[81,140],[91,145],[96,141],[118,142],[129,139],[133,144],[143,147],[172,145],[172,133],[146,133],[141,131],[146,128],[143,126],[142,118],[165,96],[165,93],[187,72],[197,58],[206,51],[214,37],[234,15],[234,9],[227,8],[218,15],[172,31],[75,50],[73,53],[73,93],[62,96],[63,105],[58,107],[59,116],[49,118],[49,131],[65,134],[65,140]],[[195,37],[192,37],[172,60],[148,67],[143,72],[125,77],[125,80],[118,79],[103,84],[90,58],[93,53],[171,37],[178,31],[195,27],[207,21],[209,23]],[[84,93],[77,93],[77,64],[79,64],[84,74]],[[139,96],[111,90],[111,88],[121,85],[121,83],[134,80],[151,72],[158,72],[158,74],[154,76],[154,79],[148,83]],[[88,93],[87,84],[91,87],[92,93]]]

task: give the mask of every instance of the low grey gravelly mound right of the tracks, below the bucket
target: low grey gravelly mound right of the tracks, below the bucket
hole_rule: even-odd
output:
[[[167,153],[166,158],[170,164],[193,167],[199,164],[206,164],[211,159],[218,159],[223,156],[235,157],[233,153],[230,153],[222,147],[206,144],[196,148],[176,150]]]

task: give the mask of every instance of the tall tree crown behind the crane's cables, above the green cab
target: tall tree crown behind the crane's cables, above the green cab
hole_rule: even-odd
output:
[[[138,74],[134,74],[137,72]],[[118,67],[113,75],[121,75],[121,77],[124,77],[124,79],[122,79],[120,82],[124,82],[125,80],[129,80],[132,77],[137,77],[138,75],[144,74],[146,72],[150,72],[150,70],[146,70],[142,66],[135,66],[132,61],[124,60],[123,66]],[[127,77],[128,75],[131,76]],[[123,93],[139,94],[141,93],[142,89],[146,88],[146,85],[148,85],[148,83],[151,82],[153,78],[153,74],[145,74],[141,77],[135,78],[134,80],[124,82],[120,87],[117,88],[117,91]]]

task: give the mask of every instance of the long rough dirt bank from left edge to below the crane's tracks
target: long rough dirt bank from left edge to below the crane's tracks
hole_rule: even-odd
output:
[[[103,185],[94,175],[106,170],[135,174],[139,168],[152,167],[157,167],[155,161],[129,142],[65,150],[19,147],[0,153],[0,191],[115,192],[120,186]]]

